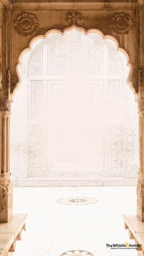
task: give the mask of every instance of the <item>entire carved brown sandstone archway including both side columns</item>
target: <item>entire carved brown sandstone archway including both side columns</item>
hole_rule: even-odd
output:
[[[129,84],[135,92],[139,103],[139,142],[140,142],[140,172],[137,185],[137,215],[144,221],[143,190],[144,190],[144,90],[143,90],[143,1],[124,2],[87,2],[71,1],[65,6],[65,1],[41,2],[34,5],[31,1],[13,0],[5,4],[2,0],[0,19],[1,44],[1,75],[0,75],[0,114],[1,114],[1,211],[0,221],[8,222],[12,217],[12,185],[9,170],[9,117],[13,92],[18,84],[16,64],[23,49],[29,50],[32,38],[37,38],[46,31],[57,27],[77,25],[85,29],[98,29],[104,35],[110,34],[117,38],[120,48],[129,53],[132,65]],[[27,7],[28,6],[28,7]],[[70,9],[74,8],[73,12]],[[77,9],[77,11],[75,11]],[[3,17],[2,17],[3,16]],[[30,26],[27,26],[27,21]],[[62,33],[62,32],[61,32]],[[136,47],[135,47],[136,46]],[[136,50],[135,50],[136,49]]]

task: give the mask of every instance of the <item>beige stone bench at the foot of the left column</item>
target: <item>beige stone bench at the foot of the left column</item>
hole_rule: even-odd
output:
[[[21,240],[22,230],[26,230],[27,214],[15,214],[9,223],[0,224],[0,256],[15,252],[16,240]]]

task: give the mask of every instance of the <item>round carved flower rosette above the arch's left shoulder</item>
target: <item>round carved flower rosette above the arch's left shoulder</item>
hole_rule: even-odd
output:
[[[14,27],[20,35],[32,35],[39,27],[38,19],[32,13],[24,12],[16,17]]]

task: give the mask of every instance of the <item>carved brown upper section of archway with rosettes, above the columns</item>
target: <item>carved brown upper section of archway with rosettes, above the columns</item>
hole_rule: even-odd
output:
[[[83,8],[82,4],[79,4],[77,8],[71,10],[70,3],[64,9],[59,3],[57,8],[54,4],[49,7],[50,5],[45,3],[45,8],[40,4],[40,9],[37,9],[35,5],[26,2],[23,5],[19,1],[14,2],[5,5],[0,12],[0,28],[3,34],[1,45],[2,43],[4,45],[0,49],[1,110],[10,111],[13,95],[20,84],[16,67],[21,61],[23,52],[31,47],[31,42],[43,37],[41,35],[45,35],[48,31],[52,32],[52,29],[63,31],[65,27],[71,26],[82,27],[85,31],[97,29],[115,40],[117,38],[121,51],[128,53],[130,66],[128,83],[135,95],[139,93],[141,86],[141,95],[143,95],[143,60],[140,54],[142,6],[137,5],[136,2],[121,5],[111,3],[96,10],[98,8],[96,5],[93,9],[92,5],[85,5]],[[143,109],[141,98],[139,102],[139,108]]]

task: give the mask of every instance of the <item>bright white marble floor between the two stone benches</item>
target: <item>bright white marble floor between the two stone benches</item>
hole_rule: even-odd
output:
[[[106,244],[131,243],[122,214],[136,214],[136,187],[13,188],[14,213],[28,213],[27,230],[16,241],[13,256],[60,256],[81,250],[94,256],[136,256],[135,249],[110,249]],[[92,197],[98,202],[70,205],[65,197]],[[78,254],[73,254],[78,255]],[[88,254],[79,254],[88,256]]]

